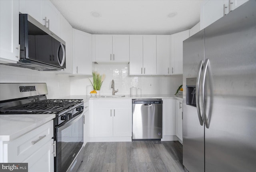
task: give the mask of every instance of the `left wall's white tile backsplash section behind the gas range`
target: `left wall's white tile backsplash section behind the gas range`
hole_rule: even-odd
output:
[[[48,71],[36,71],[20,67],[0,65],[1,83],[46,83],[48,99],[70,95],[70,77]]]

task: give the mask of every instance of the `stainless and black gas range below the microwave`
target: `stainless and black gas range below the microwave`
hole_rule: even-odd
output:
[[[76,171],[83,158],[83,99],[47,99],[46,83],[0,83],[0,115],[55,114],[54,171]]]

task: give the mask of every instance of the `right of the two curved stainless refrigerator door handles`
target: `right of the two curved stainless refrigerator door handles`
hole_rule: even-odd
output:
[[[210,114],[208,115],[208,118],[207,118],[207,116],[206,116],[206,109],[205,109],[205,78],[206,78],[206,71],[207,71],[209,63],[210,63],[209,59],[206,59],[205,63],[204,63],[204,71],[203,71],[203,74],[202,74],[202,76],[203,76],[203,78],[202,78],[202,114],[203,114],[203,119],[204,119],[205,127],[207,129],[209,129]],[[209,70],[209,74],[211,75],[210,70]],[[210,79],[209,86],[210,86],[210,92],[211,92],[210,96],[212,97],[212,88],[211,88],[212,87],[212,79],[211,78],[209,78],[209,79]],[[210,102],[210,103],[212,103],[212,102]],[[212,105],[210,105],[210,106],[212,107]],[[211,113],[211,110],[209,112]]]

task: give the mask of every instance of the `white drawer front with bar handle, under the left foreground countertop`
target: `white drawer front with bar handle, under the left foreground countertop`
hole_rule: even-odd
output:
[[[53,137],[53,120],[8,142],[8,162],[23,162]],[[34,143],[32,143],[34,142]]]

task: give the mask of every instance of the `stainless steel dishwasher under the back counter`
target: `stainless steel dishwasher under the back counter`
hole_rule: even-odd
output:
[[[162,138],[162,99],[132,100],[132,140]]]

